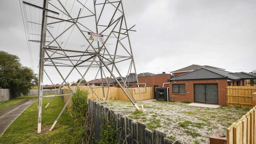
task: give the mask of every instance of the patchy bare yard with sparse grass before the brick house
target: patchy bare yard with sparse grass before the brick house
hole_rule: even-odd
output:
[[[144,112],[135,112],[130,102],[108,100],[107,107],[135,121],[157,129],[173,140],[189,140],[191,144],[208,144],[211,135],[226,135],[226,128],[250,109],[221,106],[206,108],[181,102],[143,101]],[[185,138],[184,138],[185,137]]]

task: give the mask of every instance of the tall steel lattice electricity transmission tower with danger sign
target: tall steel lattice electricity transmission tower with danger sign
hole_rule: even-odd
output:
[[[83,2],[82,0],[70,0],[72,1],[70,4],[67,0],[35,0],[33,3],[32,1],[23,2],[23,4],[39,9],[39,13],[42,11],[41,24],[31,22],[41,25],[41,38],[38,41],[30,40],[40,42],[37,132],[41,133],[44,74],[52,82],[50,75],[46,73],[46,67],[54,67],[61,78],[61,84],[65,84],[70,91],[70,97],[50,131],[75,94],[76,89],[71,90],[67,83],[67,79],[74,75],[74,71],[76,71],[76,76],[80,76],[78,87],[83,79],[86,80],[85,76],[93,72],[93,69],[95,70],[95,79],[100,77],[101,87],[91,87],[89,83],[87,85],[98,99],[95,89],[102,89],[104,102],[108,99],[110,83],[107,80],[108,86],[104,87],[103,79],[110,76],[115,79],[128,99],[139,110],[132,92],[126,85],[131,72],[134,72],[135,82],[139,87],[129,37],[129,32],[135,31],[135,25],[128,26],[126,23],[122,0],[83,0]],[[63,39],[66,39],[66,42],[62,41]],[[78,46],[78,43],[83,45]],[[125,77],[122,77],[121,70],[128,70]],[[104,92],[104,88],[108,89],[107,92]],[[52,98],[63,95],[55,94]]]

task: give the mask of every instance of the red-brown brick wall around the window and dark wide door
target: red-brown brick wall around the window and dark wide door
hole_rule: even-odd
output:
[[[194,102],[194,84],[199,83],[218,83],[218,101],[219,105],[227,105],[228,101],[228,91],[226,89],[228,82],[227,79],[206,79],[206,80],[186,80],[186,81],[171,81],[169,85],[169,100],[170,101],[189,101]],[[185,94],[175,94],[173,93],[173,84],[185,84],[186,93]]]

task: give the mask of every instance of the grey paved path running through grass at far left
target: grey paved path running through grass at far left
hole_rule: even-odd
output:
[[[38,97],[24,100],[0,110],[0,137],[6,129],[23,113]]]

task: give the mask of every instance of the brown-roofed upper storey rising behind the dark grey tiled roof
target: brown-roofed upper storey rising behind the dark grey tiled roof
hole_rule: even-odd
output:
[[[192,72],[198,68],[215,68],[215,69],[219,69],[219,70],[225,70],[223,68],[217,68],[217,67],[214,67],[214,66],[208,66],[208,65],[190,65],[190,66],[187,66],[187,67],[184,67],[184,68],[180,68],[178,70],[174,70],[172,73],[173,76],[178,76],[178,75],[181,75],[181,74],[186,74],[188,72]]]

